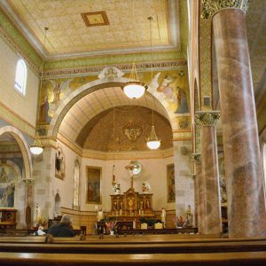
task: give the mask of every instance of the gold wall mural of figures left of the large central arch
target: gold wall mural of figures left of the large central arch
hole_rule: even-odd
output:
[[[58,82],[55,80],[46,80],[43,81],[44,83],[51,83],[51,87],[52,87],[52,92],[50,94],[51,98],[51,102],[49,102],[49,104],[46,104],[46,108],[44,109],[43,107],[43,116],[40,115],[40,121],[45,120],[46,122],[50,122],[51,121],[51,117],[53,116],[54,112],[56,111],[57,107],[59,106],[60,102],[66,98],[66,96],[71,93],[71,89],[69,88],[69,83],[73,80],[69,79],[63,82]],[[45,99],[44,99],[45,100]],[[44,102],[43,102],[44,104]],[[47,111],[48,109],[48,111]],[[44,119],[44,111],[45,111],[45,116],[46,119]],[[41,113],[41,112],[40,112]],[[47,117],[48,116],[48,117]],[[42,119],[41,119],[42,118]],[[50,118],[50,121],[49,121]]]

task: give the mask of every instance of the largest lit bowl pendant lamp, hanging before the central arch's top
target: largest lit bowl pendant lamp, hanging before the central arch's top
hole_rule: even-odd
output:
[[[133,20],[134,20],[134,44],[136,42],[135,32],[135,1],[133,0]],[[121,88],[128,98],[141,98],[145,94],[148,86],[144,82],[140,82],[137,75],[136,63],[132,63],[129,82],[126,82]]]

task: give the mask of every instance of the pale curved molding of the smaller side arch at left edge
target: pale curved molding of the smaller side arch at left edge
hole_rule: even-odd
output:
[[[32,178],[32,161],[31,156],[29,153],[29,149],[27,146],[27,142],[24,138],[24,136],[21,134],[19,129],[16,129],[12,126],[5,126],[3,128],[0,128],[0,136],[4,133],[9,133],[12,135],[12,137],[15,138],[18,145],[20,146],[20,150],[22,153],[24,168],[25,168],[25,178],[31,179]]]

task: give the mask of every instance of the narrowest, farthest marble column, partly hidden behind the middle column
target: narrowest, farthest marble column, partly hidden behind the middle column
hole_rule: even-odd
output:
[[[192,153],[194,161],[194,180],[195,180],[195,221],[199,233],[202,233],[202,211],[203,211],[203,189],[201,176],[201,155],[200,153]]]

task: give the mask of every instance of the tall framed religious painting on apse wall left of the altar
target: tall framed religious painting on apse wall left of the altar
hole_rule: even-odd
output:
[[[101,204],[102,168],[87,166],[86,175],[87,175],[86,204]]]

